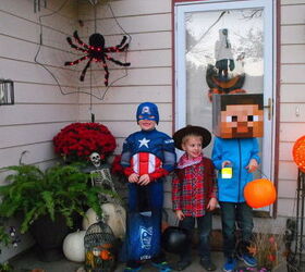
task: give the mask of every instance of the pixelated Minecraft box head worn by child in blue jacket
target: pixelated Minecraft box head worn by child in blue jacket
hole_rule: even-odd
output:
[[[213,95],[212,131],[220,138],[263,137],[263,95]]]

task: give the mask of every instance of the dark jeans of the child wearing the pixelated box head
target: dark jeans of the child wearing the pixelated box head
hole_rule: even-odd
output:
[[[227,258],[234,257],[236,225],[241,230],[242,243],[247,244],[252,238],[253,209],[246,202],[219,202],[219,205],[221,208],[223,254]]]

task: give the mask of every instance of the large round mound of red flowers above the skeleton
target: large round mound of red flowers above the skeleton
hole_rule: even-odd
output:
[[[72,123],[53,137],[53,144],[54,151],[71,161],[88,160],[91,152],[106,158],[117,147],[113,135],[99,123]]]

